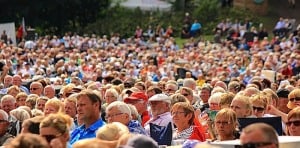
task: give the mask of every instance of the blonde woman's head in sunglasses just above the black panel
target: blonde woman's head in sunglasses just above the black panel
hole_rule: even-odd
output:
[[[268,105],[268,96],[259,93],[252,97],[250,97],[250,102],[252,104],[253,112],[252,115],[256,116],[257,118],[261,118],[265,115],[265,111]]]

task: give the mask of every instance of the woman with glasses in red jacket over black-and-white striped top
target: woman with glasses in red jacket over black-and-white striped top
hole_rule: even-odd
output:
[[[195,125],[194,108],[188,102],[178,102],[171,109],[172,120],[176,125],[173,132],[174,140],[199,140],[205,141],[202,127]]]

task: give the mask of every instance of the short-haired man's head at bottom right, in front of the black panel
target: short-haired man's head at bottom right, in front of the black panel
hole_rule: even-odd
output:
[[[242,148],[278,148],[278,136],[273,127],[265,123],[254,123],[245,127],[240,137]]]

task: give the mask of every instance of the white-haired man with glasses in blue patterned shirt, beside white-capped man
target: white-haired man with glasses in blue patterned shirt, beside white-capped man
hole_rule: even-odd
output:
[[[131,111],[129,106],[121,101],[115,101],[106,107],[105,119],[108,123],[120,122],[126,125],[130,133],[146,135],[145,129],[142,125],[132,120]]]

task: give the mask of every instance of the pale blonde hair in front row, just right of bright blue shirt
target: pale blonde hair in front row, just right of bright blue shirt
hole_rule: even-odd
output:
[[[120,122],[108,123],[96,132],[96,137],[101,140],[118,140],[123,134],[128,134],[128,127]]]

